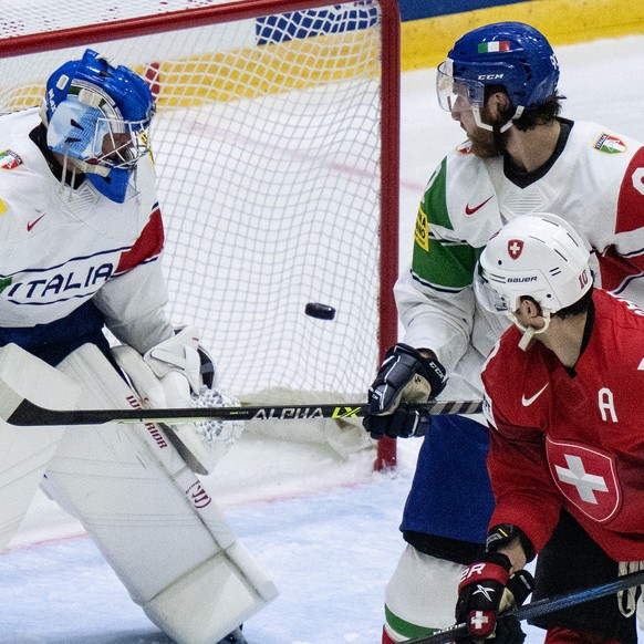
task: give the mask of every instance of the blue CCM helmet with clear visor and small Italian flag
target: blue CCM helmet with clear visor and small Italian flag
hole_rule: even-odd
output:
[[[443,108],[454,110],[460,95],[475,110],[478,123],[486,86],[505,87],[516,120],[524,110],[555,95],[558,82],[559,63],[542,33],[522,22],[496,22],[456,41],[438,66],[436,87]]]

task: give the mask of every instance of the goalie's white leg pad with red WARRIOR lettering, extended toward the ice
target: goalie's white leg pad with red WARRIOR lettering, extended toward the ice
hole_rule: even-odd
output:
[[[138,404],[92,345],[59,368],[82,386],[83,406]],[[50,496],[73,508],[133,600],[178,644],[218,642],[276,596],[159,426],[69,427],[46,476]]]

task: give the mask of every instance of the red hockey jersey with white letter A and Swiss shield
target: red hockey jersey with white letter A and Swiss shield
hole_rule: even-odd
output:
[[[490,526],[513,523],[537,552],[561,506],[616,561],[644,560],[644,312],[595,290],[574,373],[509,329],[482,372],[490,425]],[[588,332],[588,329],[586,329]]]

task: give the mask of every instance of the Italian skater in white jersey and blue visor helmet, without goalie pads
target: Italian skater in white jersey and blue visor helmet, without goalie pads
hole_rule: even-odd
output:
[[[404,405],[482,395],[482,361],[506,323],[475,301],[481,248],[517,217],[565,214],[594,250],[598,285],[644,303],[644,149],[603,125],[560,117],[558,81],[547,39],[518,22],[466,33],[437,70],[439,104],[468,141],[443,159],[420,202],[412,266],[395,288],[404,344],[389,350],[365,419],[374,437],[427,433],[401,526],[407,547],[385,591],[385,644],[454,623],[463,564],[486,542],[492,495],[482,418],[422,417]],[[584,568],[575,564],[569,569]],[[557,574],[546,548],[536,598]],[[547,642],[590,641],[574,615],[561,619],[539,621]]]

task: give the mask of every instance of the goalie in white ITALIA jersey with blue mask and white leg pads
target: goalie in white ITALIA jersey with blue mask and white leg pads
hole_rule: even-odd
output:
[[[217,398],[198,333],[164,312],[154,113],[143,79],[86,50],[50,76],[40,108],[0,116],[0,368],[58,405]],[[0,549],[42,482],[177,643],[245,642],[239,624],[274,588],[186,467],[211,470],[211,429],[0,423]]]

